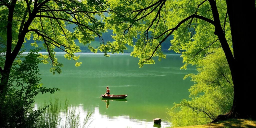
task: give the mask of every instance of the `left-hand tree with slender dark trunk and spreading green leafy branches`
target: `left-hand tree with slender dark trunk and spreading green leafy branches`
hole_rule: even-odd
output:
[[[94,15],[101,15],[109,4],[106,1],[93,0],[1,0],[0,1],[0,95],[5,97],[13,62],[22,48],[25,39],[33,35],[34,40],[43,41],[47,55],[41,55],[44,63],[51,62],[51,71],[60,73],[61,63],[55,58],[55,48],[66,52],[65,58],[76,61],[81,51],[74,40],[89,44],[101,33],[104,24]],[[69,25],[75,24],[72,29]],[[103,42],[104,43],[104,42]],[[36,42],[31,44],[37,46]],[[91,51],[97,52],[89,45]],[[76,62],[79,66],[81,62]]]

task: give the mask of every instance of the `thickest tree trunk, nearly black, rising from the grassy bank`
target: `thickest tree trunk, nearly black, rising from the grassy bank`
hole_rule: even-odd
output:
[[[234,64],[231,70],[234,83],[234,100],[228,118],[252,118],[255,113],[254,73],[255,58],[255,0],[227,0],[228,16],[234,50]]]

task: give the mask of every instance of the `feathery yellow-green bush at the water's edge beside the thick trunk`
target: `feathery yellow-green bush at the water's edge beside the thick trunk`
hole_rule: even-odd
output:
[[[175,103],[169,112],[174,126],[205,124],[232,107],[233,83],[223,50],[219,48],[200,60],[197,71],[184,77],[196,83],[189,89],[191,99]]]

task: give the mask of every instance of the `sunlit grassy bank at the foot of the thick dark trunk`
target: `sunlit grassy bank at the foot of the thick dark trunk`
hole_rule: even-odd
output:
[[[216,123],[209,123],[205,125],[184,126],[184,127],[172,127],[172,128],[255,128],[256,121],[243,120],[243,119],[230,119],[226,121],[220,121]]]

